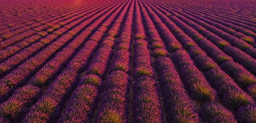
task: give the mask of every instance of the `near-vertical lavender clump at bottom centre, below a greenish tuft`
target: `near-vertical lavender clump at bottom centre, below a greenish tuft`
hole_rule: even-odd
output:
[[[134,82],[134,122],[161,123],[154,80],[142,76]]]

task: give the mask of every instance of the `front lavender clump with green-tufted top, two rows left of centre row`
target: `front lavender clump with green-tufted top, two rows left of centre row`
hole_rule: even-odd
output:
[[[70,99],[69,106],[62,114],[61,122],[85,122],[88,121],[88,112],[98,94],[102,80],[95,74],[89,74],[80,80],[79,86]]]

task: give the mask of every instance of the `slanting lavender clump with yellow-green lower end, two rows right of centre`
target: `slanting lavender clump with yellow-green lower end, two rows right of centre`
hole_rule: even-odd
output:
[[[195,100],[214,100],[215,90],[209,86],[203,74],[195,67],[188,53],[183,50],[172,54],[172,59],[180,71],[180,77],[188,84]]]

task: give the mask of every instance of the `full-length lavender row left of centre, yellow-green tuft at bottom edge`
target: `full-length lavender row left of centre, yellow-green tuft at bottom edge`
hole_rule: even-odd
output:
[[[124,26],[117,42],[117,49],[111,65],[111,74],[107,79],[106,92],[103,94],[102,104],[99,108],[99,114],[96,123],[127,123],[126,106],[128,94],[128,62],[129,62],[129,46],[131,39],[131,24],[133,20],[134,0],[128,6],[125,20],[120,17],[116,20],[112,29],[117,28],[119,20],[124,20]],[[123,13],[125,14],[125,13]],[[114,30],[113,30],[114,31]],[[118,30],[116,30],[118,31]],[[112,35],[113,33],[111,33]],[[123,48],[122,46],[126,46]],[[115,118],[112,118],[115,117]]]

